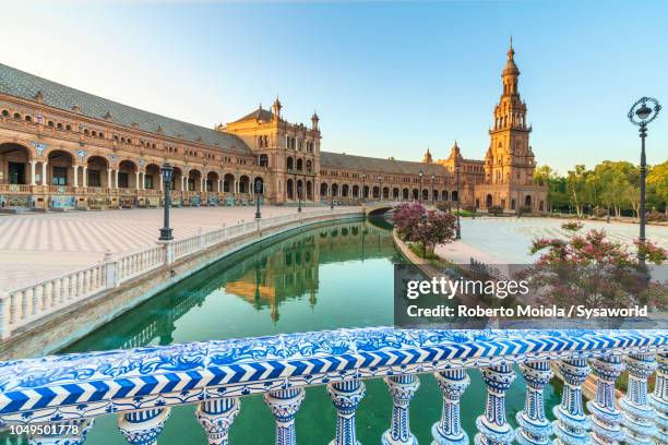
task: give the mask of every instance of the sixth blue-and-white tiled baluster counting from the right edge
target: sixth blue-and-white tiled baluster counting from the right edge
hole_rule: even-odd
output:
[[[476,445],[504,445],[513,442],[514,432],[505,419],[505,392],[515,380],[510,364],[484,368],[482,380],[487,384],[485,414],[478,417]]]

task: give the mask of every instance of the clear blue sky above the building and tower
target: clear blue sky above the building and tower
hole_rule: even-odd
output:
[[[29,4],[20,4],[29,3]],[[321,117],[322,148],[420,159],[456,139],[482,158],[509,36],[539,164],[637,161],[627,120],[668,106],[668,2],[12,2],[0,62],[212,127],[276,95]],[[668,157],[668,109],[648,161]]]

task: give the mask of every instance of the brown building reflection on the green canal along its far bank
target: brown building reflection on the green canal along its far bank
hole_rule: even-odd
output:
[[[396,257],[384,220],[303,229],[262,241],[151,298],[60,352],[129,349],[174,342],[176,322],[207,298],[225,292],[276,323],[289,300],[318,304],[319,272],[326,264]],[[391,227],[391,226],[390,226]]]

